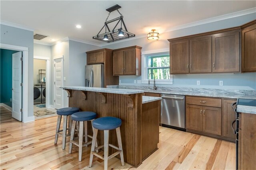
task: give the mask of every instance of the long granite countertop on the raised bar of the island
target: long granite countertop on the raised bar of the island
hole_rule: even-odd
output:
[[[98,88],[98,87],[84,87],[84,86],[64,86],[64,87],[60,87],[60,88],[70,89],[70,90],[84,90],[84,91],[91,91],[91,92],[115,93],[115,94],[144,93],[144,90],[117,89],[117,88]]]

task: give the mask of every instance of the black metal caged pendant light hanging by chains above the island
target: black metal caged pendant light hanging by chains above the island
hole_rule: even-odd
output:
[[[100,29],[99,33],[96,36],[92,37],[93,39],[98,39],[100,41],[110,43],[110,42],[119,41],[122,39],[135,37],[135,34],[127,31],[126,25],[123,20],[124,16],[118,11],[119,8],[121,8],[121,6],[116,4],[115,6],[112,6],[108,9],[106,9],[106,11],[109,12],[108,17],[110,16],[110,13],[113,11],[117,11],[120,14],[120,17],[114,18],[109,21],[108,21],[108,17],[107,17],[107,19],[104,23],[104,26],[102,27],[102,29]],[[112,30],[110,30],[108,27],[108,24],[115,22],[115,21],[117,21],[115,27]],[[118,29],[116,29],[118,24],[120,25],[120,27],[118,27]],[[124,27],[124,29],[122,28],[122,26]],[[105,33],[101,33],[101,31],[104,30],[104,27],[105,27]]]

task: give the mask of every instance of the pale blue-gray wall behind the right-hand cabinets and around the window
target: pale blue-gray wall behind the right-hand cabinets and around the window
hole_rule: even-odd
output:
[[[118,42],[110,45],[103,46],[102,48],[118,49],[122,47],[129,47],[138,45],[142,47],[143,51],[151,51],[156,49],[169,48],[167,39],[192,35],[196,33],[203,33],[224,29],[229,27],[236,27],[256,19],[256,13],[230,18],[226,20],[206,23],[189,28],[170,31],[160,34],[160,39],[157,41],[150,41],[146,37],[133,39],[130,41]],[[129,26],[129,25],[128,25]],[[129,30],[129,27],[128,27]],[[133,84],[134,80],[141,80],[141,76],[120,76],[121,84]],[[196,86],[196,80],[200,80],[201,86]],[[223,80],[224,86],[218,86],[218,81]],[[256,73],[244,74],[193,74],[193,75],[174,75],[173,85],[162,86],[178,86],[178,87],[197,87],[197,88],[231,88],[231,89],[254,89],[256,90]]]

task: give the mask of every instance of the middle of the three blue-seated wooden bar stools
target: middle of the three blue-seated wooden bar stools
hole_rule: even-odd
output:
[[[70,135],[70,144],[69,144],[69,152],[71,154],[72,152],[72,147],[73,144],[78,146],[79,152],[78,152],[78,161],[82,160],[82,147],[88,146],[89,144],[92,143],[92,141],[88,142],[88,137],[92,139],[91,135],[88,135],[88,130],[87,130],[87,121],[93,121],[96,118],[97,114],[92,112],[92,111],[80,111],[77,113],[74,113],[71,115],[72,119],[72,128],[71,128],[71,135]],[[76,127],[76,122],[79,122],[79,139],[78,142],[74,141],[74,133],[75,133],[75,127]],[[84,130],[84,132],[83,132]],[[92,127],[92,131],[94,131],[94,128]],[[84,135],[83,135],[84,134]],[[83,144],[83,137],[85,140],[85,143]],[[77,138],[76,138],[77,139]],[[96,147],[98,147],[97,142]]]

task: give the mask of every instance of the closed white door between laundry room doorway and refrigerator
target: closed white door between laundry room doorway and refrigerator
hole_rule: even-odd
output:
[[[54,107],[60,109],[63,107],[63,58],[54,60]]]

